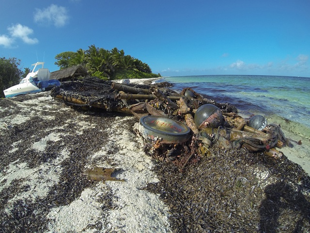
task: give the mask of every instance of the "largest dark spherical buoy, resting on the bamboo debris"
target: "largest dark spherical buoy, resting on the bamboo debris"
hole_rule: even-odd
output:
[[[203,128],[218,128],[225,123],[221,110],[213,104],[203,104],[200,106],[195,113],[194,121],[199,130]]]

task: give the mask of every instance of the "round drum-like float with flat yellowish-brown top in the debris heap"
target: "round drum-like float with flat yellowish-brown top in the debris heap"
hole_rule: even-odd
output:
[[[152,141],[160,137],[161,143],[182,143],[190,137],[187,125],[163,116],[142,116],[140,125],[142,136]]]

